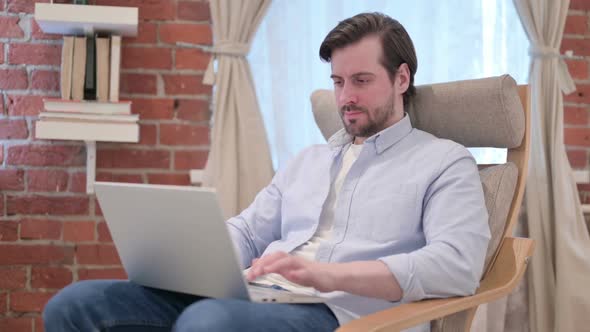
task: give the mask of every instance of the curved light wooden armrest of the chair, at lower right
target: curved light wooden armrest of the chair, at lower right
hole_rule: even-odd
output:
[[[399,331],[497,300],[516,287],[533,250],[533,240],[507,237],[493,267],[474,295],[402,304],[355,319],[337,331]]]

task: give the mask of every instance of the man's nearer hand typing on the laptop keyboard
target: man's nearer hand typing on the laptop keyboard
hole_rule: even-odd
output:
[[[285,252],[275,252],[253,260],[247,279],[253,281],[268,273],[278,273],[296,284],[331,292],[336,290],[335,268],[334,264],[311,262]]]

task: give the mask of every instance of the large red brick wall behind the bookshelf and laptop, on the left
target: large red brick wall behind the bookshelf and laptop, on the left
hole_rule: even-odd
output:
[[[73,281],[125,277],[85,193],[84,145],[35,139],[41,99],[59,96],[61,36],[39,30],[34,2],[0,0],[0,331],[42,331],[43,305]],[[207,1],[94,3],[140,17],[137,38],[123,41],[121,97],[140,114],[141,140],[98,143],[97,179],[188,184],[209,147],[209,55],[176,42],[211,44]]]

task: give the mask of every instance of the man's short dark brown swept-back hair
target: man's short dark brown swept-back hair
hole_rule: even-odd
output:
[[[332,52],[353,44],[368,35],[377,35],[381,40],[383,56],[381,64],[393,82],[397,69],[406,63],[410,70],[410,85],[404,93],[404,105],[416,93],[414,74],[418,69],[418,59],[412,39],[397,20],[382,13],[362,13],[338,23],[324,38],[320,46],[320,58],[326,62],[332,59]]]

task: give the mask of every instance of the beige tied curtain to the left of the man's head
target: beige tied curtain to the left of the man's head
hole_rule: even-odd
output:
[[[241,212],[272,176],[268,141],[246,59],[270,0],[210,0],[213,60],[203,81],[214,84],[211,150],[203,185],[215,187],[224,216]]]

